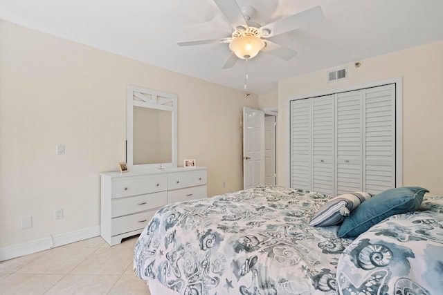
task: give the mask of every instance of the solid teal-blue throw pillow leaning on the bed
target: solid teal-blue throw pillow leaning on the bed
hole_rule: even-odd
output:
[[[397,187],[383,191],[352,211],[338,229],[338,236],[356,238],[389,216],[415,211],[428,192],[422,187]]]

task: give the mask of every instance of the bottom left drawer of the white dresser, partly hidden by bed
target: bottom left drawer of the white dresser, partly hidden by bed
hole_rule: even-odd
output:
[[[156,210],[147,212],[112,218],[112,231],[111,236],[124,234],[129,231],[135,231],[137,229],[144,229],[150,222],[152,216]]]

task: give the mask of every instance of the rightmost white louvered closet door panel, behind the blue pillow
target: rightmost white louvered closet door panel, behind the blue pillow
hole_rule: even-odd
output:
[[[395,187],[395,84],[365,89],[365,190]]]

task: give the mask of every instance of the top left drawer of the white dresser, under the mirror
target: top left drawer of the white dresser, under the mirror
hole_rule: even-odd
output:
[[[165,191],[168,187],[166,175],[139,177],[131,179],[118,179],[112,182],[111,198],[143,195],[145,193],[155,193]]]

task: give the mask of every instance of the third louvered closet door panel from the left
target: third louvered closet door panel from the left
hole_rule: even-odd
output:
[[[361,191],[362,91],[336,94],[336,194]]]

